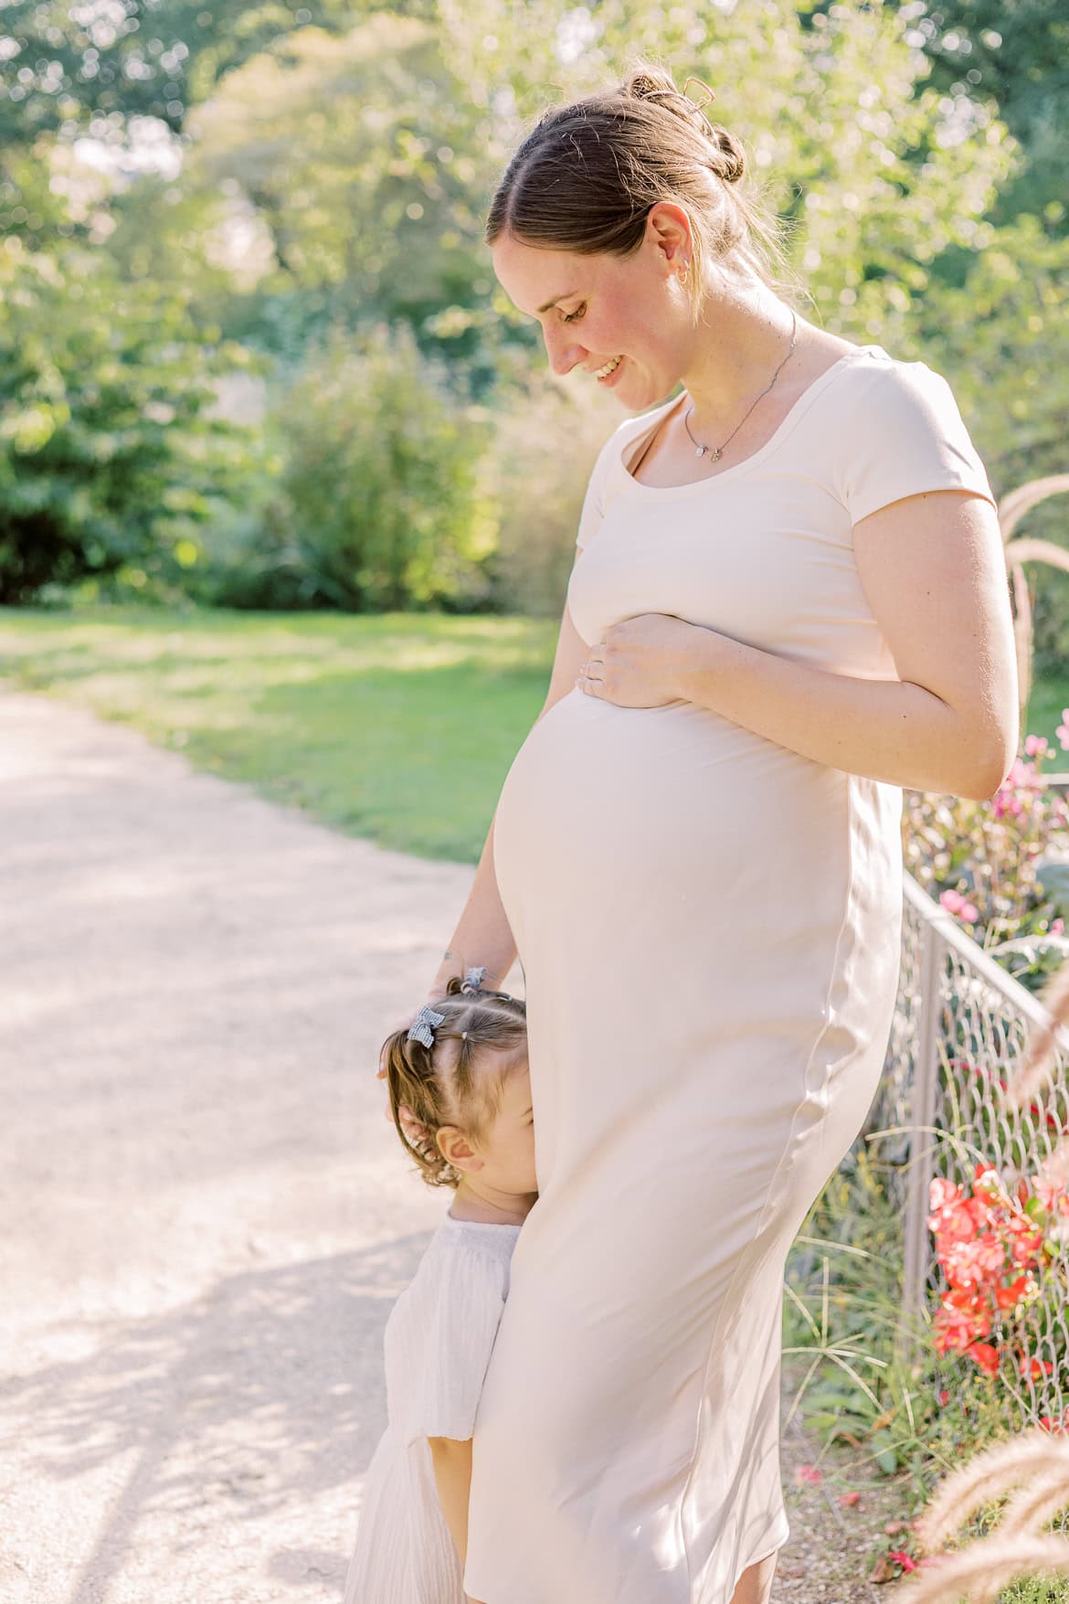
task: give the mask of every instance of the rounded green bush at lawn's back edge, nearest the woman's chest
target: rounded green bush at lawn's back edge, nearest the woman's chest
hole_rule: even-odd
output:
[[[404,324],[317,350],[264,427],[277,480],[250,542],[260,585],[250,593],[239,542],[220,598],[357,613],[487,603],[490,420]]]

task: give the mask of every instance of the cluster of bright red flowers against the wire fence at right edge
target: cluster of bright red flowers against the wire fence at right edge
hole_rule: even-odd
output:
[[[987,1375],[997,1375],[1006,1354],[1023,1378],[1039,1381],[1055,1367],[1019,1341],[1000,1341],[1005,1325],[1039,1294],[1037,1274],[1069,1235],[1069,1193],[1045,1176],[1019,1181],[1015,1192],[994,1165],[981,1160],[973,1195],[938,1176],[931,1182],[928,1229],[936,1237],[936,1259],[947,1280],[933,1325],[936,1352],[966,1354]],[[994,1341],[986,1341],[986,1338]]]

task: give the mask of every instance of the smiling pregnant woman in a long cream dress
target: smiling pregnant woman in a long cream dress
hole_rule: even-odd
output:
[[[553,371],[638,415],[428,993],[519,954],[539,1198],[474,1424],[478,1604],[766,1604],[784,1264],[881,1073],[901,788],[989,797],[1016,752],[952,393],[798,316],[744,165],[641,66],[542,117],[487,225]]]

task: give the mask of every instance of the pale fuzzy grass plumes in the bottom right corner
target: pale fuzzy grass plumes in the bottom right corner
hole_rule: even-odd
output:
[[[934,1553],[981,1505],[1015,1490],[990,1537]],[[928,1557],[902,1591],[904,1604],[995,1604],[1018,1577],[1069,1577],[1069,1541],[1042,1530],[1069,1506],[1069,1440],[1034,1429],[947,1476],[914,1522]]]

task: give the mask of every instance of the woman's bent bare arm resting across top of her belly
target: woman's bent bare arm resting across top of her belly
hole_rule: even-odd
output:
[[[832,768],[994,796],[1019,739],[995,508],[962,491],[906,496],[854,525],[854,555],[898,680],[806,667],[680,619],[664,688]]]

